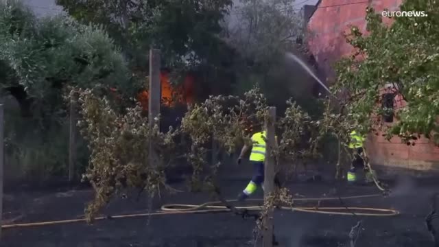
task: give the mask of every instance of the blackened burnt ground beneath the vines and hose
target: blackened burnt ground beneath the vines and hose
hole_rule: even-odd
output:
[[[227,198],[235,198],[247,181],[228,181],[222,189]],[[180,185],[176,185],[178,187]],[[302,183],[288,185],[293,193],[307,197],[333,196],[334,185]],[[378,193],[375,187],[337,185],[341,196]],[[345,200],[347,206],[394,208],[395,217],[355,217],[277,211],[275,232],[280,246],[339,247],[349,246],[348,233],[359,219],[364,220],[357,247],[432,246],[425,227],[429,198],[439,185],[405,185],[396,187],[391,197]],[[336,195],[336,194],[335,194]],[[63,191],[14,191],[4,198],[3,224],[67,220],[82,217],[84,204],[93,192],[89,189]],[[255,197],[261,197],[261,193]],[[195,204],[209,200],[205,194],[178,193],[155,200],[158,209],[165,203]],[[112,202],[103,213],[116,215],[145,212],[147,200],[128,196]],[[340,206],[332,202],[328,206]],[[320,207],[325,204],[320,204]],[[8,222],[9,221],[9,222]],[[2,231],[0,246],[23,247],[233,247],[251,246],[253,220],[244,220],[230,213],[162,215],[120,220],[100,220],[93,225],[83,222],[7,228]]]

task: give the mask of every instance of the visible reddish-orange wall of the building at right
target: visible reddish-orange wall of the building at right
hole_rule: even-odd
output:
[[[316,12],[309,19],[309,49],[316,57],[319,68],[331,79],[334,76],[333,63],[342,56],[350,55],[353,47],[346,43],[344,32],[351,25],[359,27],[366,33],[367,1],[359,0],[321,0]],[[402,0],[371,1],[376,11],[398,10]],[[390,23],[390,19],[384,19]],[[405,104],[400,99],[395,100],[395,108]],[[439,148],[427,139],[421,139],[415,146],[407,146],[398,138],[386,141],[379,134],[370,135],[367,148],[370,152],[371,163],[400,167],[403,169],[426,171],[439,169]]]

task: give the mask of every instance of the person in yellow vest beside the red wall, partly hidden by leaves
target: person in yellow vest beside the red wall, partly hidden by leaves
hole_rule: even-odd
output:
[[[351,132],[351,142],[349,148],[353,150],[354,158],[352,161],[351,169],[348,170],[348,183],[357,183],[357,169],[364,169],[366,177],[369,174],[368,167],[364,165],[362,153],[364,152],[364,142],[366,137],[359,134],[355,130]]]

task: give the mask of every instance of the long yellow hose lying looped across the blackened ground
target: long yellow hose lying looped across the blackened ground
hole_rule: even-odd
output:
[[[349,199],[359,199],[359,198],[372,198],[382,196],[382,194],[372,194],[364,196],[346,196],[342,198],[295,198],[294,201],[324,201],[324,200],[349,200]],[[247,201],[260,201],[262,199],[248,199]],[[236,202],[236,200],[228,200],[228,202]],[[161,211],[156,211],[152,213],[134,213],[127,215],[115,215],[111,216],[112,219],[130,218],[130,217],[145,217],[154,215],[173,215],[173,214],[189,214],[189,213],[218,213],[218,212],[230,212],[224,206],[219,206],[215,204],[220,204],[221,202],[205,202],[199,205],[192,204],[165,204],[161,207]],[[248,211],[261,211],[261,206],[241,206],[236,207],[237,209],[247,209]],[[376,209],[369,207],[280,207],[279,209],[289,210],[289,211],[299,211],[306,213],[323,213],[329,215],[363,215],[363,216],[395,216],[399,215],[399,211],[393,209]],[[369,213],[364,213],[364,212]],[[375,212],[375,213],[372,213]],[[95,217],[95,220],[106,220],[108,217],[101,216]],[[49,226],[54,224],[67,224],[75,222],[86,222],[85,218],[73,219],[73,220],[56,220],[49,222],[32,222],[32,223],[22,223],[22,224],[7,224],[1,226],[1,228],[18,228],[18,227],[31,227],[31,226]]]

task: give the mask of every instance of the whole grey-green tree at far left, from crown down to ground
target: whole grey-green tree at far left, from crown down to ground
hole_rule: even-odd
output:
[[[62,96],[69,86],[99,85],[127,95],[137,87],[101,27],[66,16],[37,19],[19,1],[0,3],[0,86],[2,96],[16,98],[22,115],[6,111],[11,165],[45,178],[62,172],[68,155],[68,113]]]

